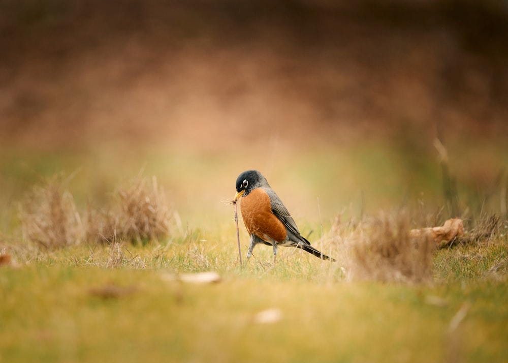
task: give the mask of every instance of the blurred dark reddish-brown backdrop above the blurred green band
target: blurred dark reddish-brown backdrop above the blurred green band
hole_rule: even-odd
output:
[[[507,135],[505,1],[0,4],[4,146]]]

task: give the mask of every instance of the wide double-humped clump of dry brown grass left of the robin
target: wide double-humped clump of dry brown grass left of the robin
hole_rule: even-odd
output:
[[[20,203],[24,240],[56,249],[83,240],[142,243],[169,234],[170,208],[154,176],[138,176],[118,187],[101,209],[88,207],[84,223],[67,188],[69,180],[54,175],[35,186]]]

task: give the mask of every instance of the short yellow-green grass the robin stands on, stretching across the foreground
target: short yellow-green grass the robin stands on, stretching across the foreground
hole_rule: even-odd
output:
[[[240,268],[232,240],[110,247],[78,246],[3,267],[3,361],[505,361],[508,332],[506,238],[481,249],[435,255],[430,285],[346,282],[336,264],[293,249],[271,250]],[[337,253],[337,252],[336,252]],[[445,264],[443,261],[449,261]],[[498,261],[498,262],[496,262]],[[496,265],[497,273],[492,267]],[[211,285],[163,274],[217,270]],[[124,295],[93,293],[107,286]],[[436,302],[437,301],[437,302]],[[454,315],[470,308],[449,333]],[[274,324],[256,313],[277,308]],[[451,358],[450,358],[451,359]]]

